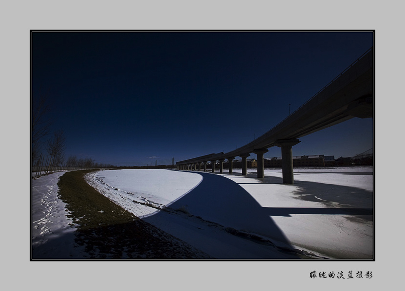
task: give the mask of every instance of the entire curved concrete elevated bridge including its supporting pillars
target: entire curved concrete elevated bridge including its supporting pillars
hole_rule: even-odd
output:
[[[348,68],[323,87],[310,100],[265,134],[228,153],[206,154],[176,163],[177,170],[206,171],[206,164],[229,160],[229,173],[236,156],[242,158],[242,175],[247,174],[246,158],[257,154],[258,178],[264,177],[263,154],[268,148],[281,148],[283,183],[294,184],[292,147],[304,137],[351,118],[373,117],[373,48],[370,48]],[[198,169],[197,169],[198,165]]]

